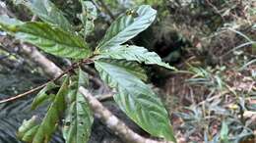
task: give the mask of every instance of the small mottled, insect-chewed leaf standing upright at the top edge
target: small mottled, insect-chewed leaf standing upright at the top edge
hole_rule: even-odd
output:
[[[96,6],[91,1],[80,0],[82,4],[82,14],[79,19],[84,25],[84,36],[89,35],[95,28],[94,21],[96,20]]]

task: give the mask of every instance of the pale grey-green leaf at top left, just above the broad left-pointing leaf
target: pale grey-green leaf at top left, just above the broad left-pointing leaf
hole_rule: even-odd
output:
[[[43,22],[58,25],[64,30],[72,31],[72,25],[64,14],[49,0],[27,0],[23,4]]]

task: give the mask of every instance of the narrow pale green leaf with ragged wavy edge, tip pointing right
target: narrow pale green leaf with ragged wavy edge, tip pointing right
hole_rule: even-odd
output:
[[[125,59],[128,61],[137,61],[139,63],[145,63],[148,65],[159,65],[170,70],[175,70],[175,68],[170,67],[166,63],[163,63],[157,53],[149,52],[144,47],[133,45],[120,45],[103,50],[98,58]]]

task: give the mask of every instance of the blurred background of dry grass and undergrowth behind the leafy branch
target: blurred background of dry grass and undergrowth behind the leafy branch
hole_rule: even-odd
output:
[[[127,8],[149,4],[158,10],[157,21],[130,42],[157,52],[178,71],[144,66],[148,83],[168,109],[177,138],[183,142],[232,143],[252,141],[256,130],[256,2],[253,0],[92,0],[98,18],[96,30],[86,40],[92,47],[111,22]],[[19,0],[4,0],[14,17],[31,21],[31,12]],[[81,12],[77,0],[52,0],[68,20],[81,28],[75,14]],[[0,9],[0,13],[2,9]],[[22,93],[47,78],[42,70],[24,59],[19,43],[0,32],[0,99]],[[44,53],[45,54],[45,53]],[[66,59],[47,55],[65,69]],[[97,77],[95,71],[87,70]],[[96,95],[109,89],[101,81],[92,90]],[[0,105],[0,142],[15,143],[17,128],[32,113],[32,96]],[[125,117],[112,102],[103,100],[116,116],[131,128],[149,136]],[[91,142],[121,142],[96,119]],[[63,142],[56,133],[52,142]]]

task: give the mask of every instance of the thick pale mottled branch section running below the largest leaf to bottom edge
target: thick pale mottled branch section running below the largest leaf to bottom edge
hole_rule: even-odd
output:
[[[93,111],[96,113],[96,117],[105,123],[110,129],[114,130],[115,133],[121,137],[125,142],[129,143],[172,143],[162,142],[142,137],[138,133],[131,130],[125,125],[123,121],[117,119],[110,111],[102,106],[100,102],[84,87],[79,88],[79,92],[82,93],[85,98],[89,101],[89,104]]]

